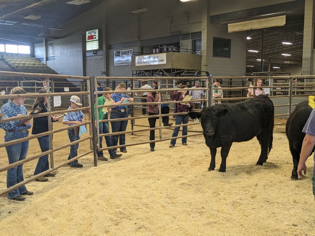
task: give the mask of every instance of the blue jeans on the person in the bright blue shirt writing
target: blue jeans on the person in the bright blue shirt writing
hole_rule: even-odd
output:
[[[111,112],[111,119],[117,119],[117,118],[128,118],[127,111],[121,112]],[[128,121],[111,121],[112,125],[112,132],[123,132],[127,129]],[[119,134],[119,135],[112,135],[112,144],[113,146],[117,146],[118,143],[118,136],[119,136],[119,145],[124,145],[125,143],[125,134]],[[117,150],[117,148],[115,148]],[[126,147],[120,148],[120,151],[126,150]]]

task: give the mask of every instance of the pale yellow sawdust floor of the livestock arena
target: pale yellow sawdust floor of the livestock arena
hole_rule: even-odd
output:
[[[54,128],[62,126],[54,123]],[[256,138],[234,143],[226,173],[207,171],[210,153],[203,136],[188,138],[185,147],[179,141],[172,149],[168,141],[156,143],[155,152],[149,144],[127,147],[122,158],[99,161],[97,167],[93,155],[85,156],[79,159],[81,169],[64,166],[49,182],[27,184],[34,195],[23,202],[0,197],[0,234],[315,235],[312,158],[306,179],[291,181],[292,158],[283,131],[284,126],[275,127],[273,149],[263,166],[255,166],[260,154]],[[171,132],[163,130],[163,138]],[[148,138],[149,132],[126,135],[127,143]],[[66,132],[54,135],[55,147],[68,142]],[[78,153],[88,149],[88,141],[80,143]],[[39,151],[32,140],[28,156]],[[55,165],[68,154],[68,148],[54,153]],[[2,149],[0,165],[7,162]],[[25,178],[36,163],[24,165]],[[216,166],[220,163],[217,157]],[[5,188],[2,172],[0,190]]]

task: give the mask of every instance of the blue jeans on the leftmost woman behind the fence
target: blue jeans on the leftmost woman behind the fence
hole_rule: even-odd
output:
[[[4,142],[9,142],[19,138],[27,137],[27,133],[19,133],[16,131],[6,132],[4,135]],[[5,147],[8,154],[9,164],[23,160],[26,158],[28,151],[29,141],[24,141],[22,143],[12,144]],[[17,183],[24,181],[23,178],[23,164],[15,166],[7,170],[7,188],[14,186]],[[9,199],[15,198],[27,192],[25,185],[22,185],[20,188],[16,188],[7,194]]]

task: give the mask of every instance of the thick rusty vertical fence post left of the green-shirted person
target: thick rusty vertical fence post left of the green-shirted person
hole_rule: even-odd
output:
[[[95,128],[95,118],[94,118],[94,101],[95,101],[95,94],[93,90],[93,77],[91,76],[88,83],[88,88],[90,91],[89,94],[89,119],[91,121],[90,125],[90,135],[92,134],[92,140],[93,140],[93,156],[94,156],[94,166],[97,166],[97,153],[96,153],[96,128]]]

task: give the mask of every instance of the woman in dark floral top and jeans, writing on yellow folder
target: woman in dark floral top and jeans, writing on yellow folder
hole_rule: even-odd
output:
[[[187,85],[183,85],[180,88],[188,88]],[[173,91],[170,93],[170,97],[172,100],[175,101],[183,101],[185,97],[187,96],[188,91]],[[185,99],[186,100],[186,99]],[[192,103],[190,102],[185,102],[184,104],[181,103],[175,103],[175,113],[180,113],[180,112],[189,112],[192,111]],[[187,124],[189,120],[189,116],[186,115],[176,115],[175,118],[175,125],[180,125],[180,124]],[[187,126],[183,126],[183,131],[182,131],[182,136],[187,135]],[[180,127],[175,127],[174,132],[172,134],[172,137],[177,137],[178,132],[179,132]],[[182,138],[181,143],[186,146],[187,145],[187,138]],[[171,143],[169,144],[169,147],[172,148],[176,144],[176,139],[172,139]]]

